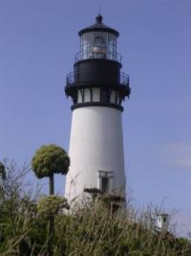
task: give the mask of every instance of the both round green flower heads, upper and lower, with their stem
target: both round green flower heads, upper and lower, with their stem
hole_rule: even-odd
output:
[[[54,194],[54,174],[66,175],[69,170],[70,158],[66,151],[56,145],[46,145],[35,151],[32,157],[32,170],[38,178],[49,176],[50,197],[42,198],[38,203],[38,212],[49,219],[49,242],[48,255],[53,256],[54,237],[54,215],[59,212],[59,208],[67,206],[65,198],[53,196]]]

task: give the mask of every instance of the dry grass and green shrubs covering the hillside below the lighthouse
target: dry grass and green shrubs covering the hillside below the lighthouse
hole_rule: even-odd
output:
[[[47,255],[48,221],[38,213],[36,200],[23,192],[21,173],[5,167],[7,179],[0,179],[0,255]],[[188,240],[148,228],[144,216],[130,207],[113,214],[101,200],[76,206],[70,214],[58,212],[53,255],[191,255]]]

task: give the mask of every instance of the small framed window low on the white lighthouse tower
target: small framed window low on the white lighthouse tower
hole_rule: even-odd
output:
[[[98,188],[103,193],[109,193],[113,190],[114,174],[111,171],[98,171]]]

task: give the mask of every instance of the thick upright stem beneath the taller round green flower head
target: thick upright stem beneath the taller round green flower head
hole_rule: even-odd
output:
[[[53,174],[50,176],[50,195],[53,195],[54,190]],[[50,217],[49,220],[49,244],[48,244],[48,255],[53,256],[53,236],[54,236],[54,218]]]

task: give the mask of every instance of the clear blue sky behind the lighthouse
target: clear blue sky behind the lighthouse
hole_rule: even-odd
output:
[[[99,3],[103,22],[120,33],[132,87],[123,112],[129,197],[137,206],[164,199],[179,211],[179,230],[182,222],[191,230],[190,0],[0,0],[0,158],[21,165],[49,143],[68,151],[65,76],[77,32],[95,22]],[[64,192],[61,176],[56,192]]]

